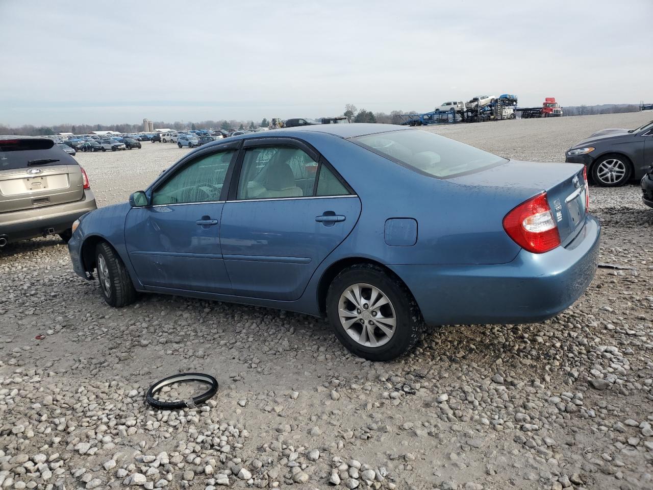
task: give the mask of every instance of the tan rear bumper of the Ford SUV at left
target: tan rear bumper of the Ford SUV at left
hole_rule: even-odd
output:
[[[0,235],[7,235],[8,242],[15,242],[41,237],[50,228],[52,233],[61,233],[82,214],[94,209],[97,209],[95,195],[87,189],[80,201],[0,214]]]

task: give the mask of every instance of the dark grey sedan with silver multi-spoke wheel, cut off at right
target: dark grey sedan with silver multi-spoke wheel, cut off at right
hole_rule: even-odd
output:
[[[567,163],[582,163],[597,186],[623,186],[641,179],[653,163],[653,121],[637,129],[605,129],[575,144]]]

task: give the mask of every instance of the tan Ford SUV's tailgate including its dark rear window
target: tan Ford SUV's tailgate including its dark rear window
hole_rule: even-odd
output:
[[[78,163],[44,139],[0,139],[0,213],[79,201]]]

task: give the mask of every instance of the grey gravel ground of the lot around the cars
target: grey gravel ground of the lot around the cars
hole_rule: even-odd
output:
[[[562,161],[582,136],[648,118],[432,130]],[[146,143],[77,158],[106,205],[187,151]],[[653,210],[634,185],[590,195],[601,261],[629,269],[599,269],[549,321],[431,329],[392,363],[349,355],[325,321],[299,314],[163,295],[112,309],[54,238],[11,244],[0,252],[0,487],[653,488]],[[151,382],[189,370],[216,376],[214,399],[144,404]]]

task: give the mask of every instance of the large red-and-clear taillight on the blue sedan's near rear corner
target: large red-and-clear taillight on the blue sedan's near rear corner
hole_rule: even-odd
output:
[[[558,225],[549,207],[546,192],[528,199],[506,214],[503,229],[518,246],[528,252],[549,252],[560,245]]]

